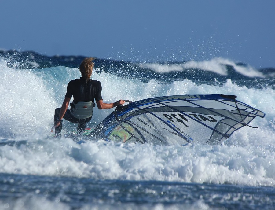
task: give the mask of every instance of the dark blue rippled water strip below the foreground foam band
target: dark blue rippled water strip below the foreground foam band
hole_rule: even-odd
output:
[[[32,208],[30,200],[43,205],[45,198],[70,209],[273,209],[275,205],[273,187],[12,174],[0,174],[0,179],[7,209],[23,203],[24,209]]]

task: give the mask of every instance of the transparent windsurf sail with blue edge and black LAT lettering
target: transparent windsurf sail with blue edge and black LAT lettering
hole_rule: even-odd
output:
[[[174,95],[117,107],[94,130],[108,141],[219,144],[265,114],[232,95]]]

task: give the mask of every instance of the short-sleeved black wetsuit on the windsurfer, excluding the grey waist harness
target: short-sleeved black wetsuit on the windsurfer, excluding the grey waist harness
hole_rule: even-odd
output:
[[[96,101],[100,101],[102,99],[101,97],[101,83],[97,80],[90,79],[86,81],[83,77],[80,77],[79,79],[71,80],[68,83],[67,86],[67,93],[65,97],[71,98],[74,97],[74,103],[77,103],[79,101],[93,101],[94,99]],[[61,108],[55,109],[54,112],[54,123],[57,122],[59,112]],[[86,123],[88,123],[92,117],[86,118],[86,119],[78,119],[72,116],[69,109],[67,109],[64,117],[65,120],[68,120],[72,123],[78,123],[77,131],[79,134],[82,134],[83,131],[86,128]],[[55,128],[55,134],[56,136],[60,136],[62,130],[62,122],[60,122],[60,125]]]

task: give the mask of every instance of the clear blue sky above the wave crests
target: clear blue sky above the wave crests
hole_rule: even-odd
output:
[[[0,49],[275,67],[274,9],[274,0],[1,1]]]

